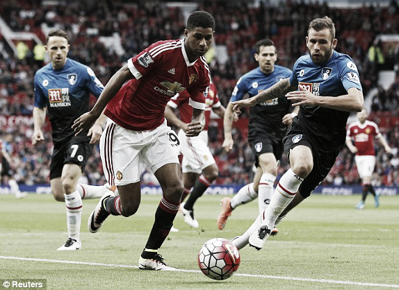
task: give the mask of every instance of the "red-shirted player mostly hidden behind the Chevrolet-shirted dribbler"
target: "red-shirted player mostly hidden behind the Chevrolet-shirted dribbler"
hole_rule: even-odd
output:
[[[181,203],[180,210],[184,221],[193,228],[198,228],[199,223],[194,217],[194,204],[204,194],[212,182],[218,178],[218,165],[208,147],[208,126],[211,120],[211,111],[223,119],[225,107],[220,103],[218,89],[214,83],[209,87],[206,96],[205,127],[198,136],[186,137],[187,125],[190,123],[193,109],[188,104],[190,94],[183,91],[174,96],[165,108],[165,118],[168,123],[177,126],[181,142],[181,170],[183,172],[184,194],[181,201],[190,194],[187,201]],[[173,109],[179,110],[180,119],[174,114]],[[193,190],[191,190],[193,188]]]

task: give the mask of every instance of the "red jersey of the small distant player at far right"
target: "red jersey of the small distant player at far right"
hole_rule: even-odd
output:
[[[357,148],[356,155],[375,155],[374,137],[380,134],[377,124],[368,120],[364,124],[351,123],[346,131],[347,138],[353,139]]]

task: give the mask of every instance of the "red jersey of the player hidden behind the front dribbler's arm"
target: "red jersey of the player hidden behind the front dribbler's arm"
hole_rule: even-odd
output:
[[[185,90],[176,96],[172,97],[168,102],[172,108],[179,108],[179,114],[181,121],[184,123],[190,123],[191,118],[193,117],[193,108],[189,104],[190,94]],[[208,130],[208,123],[211,119],[211,111],[212,108],[219,108],[220,103],[219,96],[218,96],[218,89],[214,83],[211,83],[209,86],[209,92],[205,99],[205,126],[204,130]]]

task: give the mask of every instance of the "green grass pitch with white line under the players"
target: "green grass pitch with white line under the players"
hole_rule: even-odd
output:
[[[82,248],[57,252],[65,243],[65,205],[49,195],[16,199],[0,195],[0,280],[46,279],[47,289],[391,289],[399,288],[399,196],[314,194],[279,225],[260,251],[243,248],[237,273],[213,281],[199,272],[197,253],[213,237],[231,239],[257,216],[257,201],[238,207],[225,230],[216,227],[222,196],[202,196],[195,205],[199,229],[179,213],[159,250],[181,271],[141,271],[145,246],[161,196],[144,195],[129,218],[110,216],[97,234],[87,219],[97,200],[83,201]],[[6,289],[0,284],[0,289]]]

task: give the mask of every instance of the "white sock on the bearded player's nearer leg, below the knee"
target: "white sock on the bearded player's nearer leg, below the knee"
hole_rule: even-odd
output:
[[[275,189],[270,205],[264,212],[262,225],[267,225],[269,229],[274,228],[277,217],[293,201],[302,181],[303,178],[297,176],[291,169],[284,173]]]

